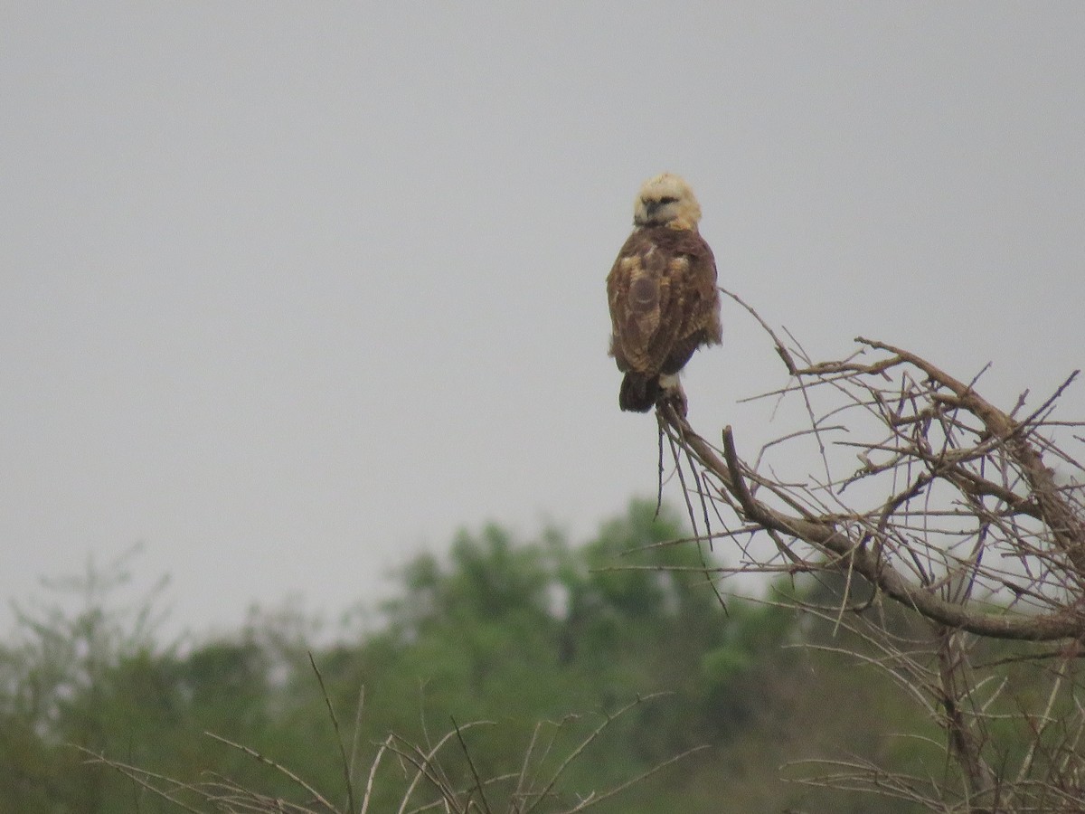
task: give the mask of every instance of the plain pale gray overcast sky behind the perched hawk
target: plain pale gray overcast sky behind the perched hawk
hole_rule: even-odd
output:
[[[652,494],[603,278],[662,170],[813,355],[1038,404],[1085,363],[1083,42],[1080,2],[4,3],[0,597],[143,540],[175,624],[334,614]],[[753,447],[782,371],[724,318],[691,418]]]

